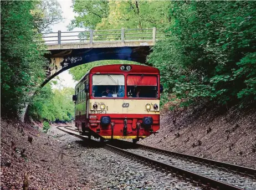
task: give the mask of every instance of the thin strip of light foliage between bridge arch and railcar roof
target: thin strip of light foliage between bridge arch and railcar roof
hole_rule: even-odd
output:
[[[111,64],[140,64],[140,63],[137,63],[134,61],[124,61],[124,60],[94,61],[91,63],[75,66],[69,70],[69,73],[73,76],[74,80],[79,81],[86,74],[86,72],[89,71],[94,66],[111,65]]]

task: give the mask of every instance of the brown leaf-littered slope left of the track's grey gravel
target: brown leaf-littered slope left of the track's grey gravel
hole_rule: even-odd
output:
[[[77,138],[35,128],[1,119],[1,189],[88,188],[74,162],[83,149]]]

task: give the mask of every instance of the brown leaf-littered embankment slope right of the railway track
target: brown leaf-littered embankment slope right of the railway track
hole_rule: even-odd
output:
[[[198,106],[162,111],[156,135],[144,145],[256,168],[256,109]]]

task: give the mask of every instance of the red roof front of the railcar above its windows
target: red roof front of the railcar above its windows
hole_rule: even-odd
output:
[[[130,71],[124,71],[120,69],[120,66],[131,66]],[[84,79],[89,73],[150,73],[150,74],[160,74],[160,71],[157,68],[147,65],[135,65],[135,64],[112,64],[112,65],[101,65],[91,68],[86,74],[78,81],[75,87]]]

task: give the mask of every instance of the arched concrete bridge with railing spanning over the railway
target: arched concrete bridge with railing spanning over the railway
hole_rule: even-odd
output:
[[[42,42],[50,54],[48,83],[63,71],[99,60],[129,60],[142,64],[156,41],[163,38],[161,29],[86,30],[84,32],[43,33]]]

